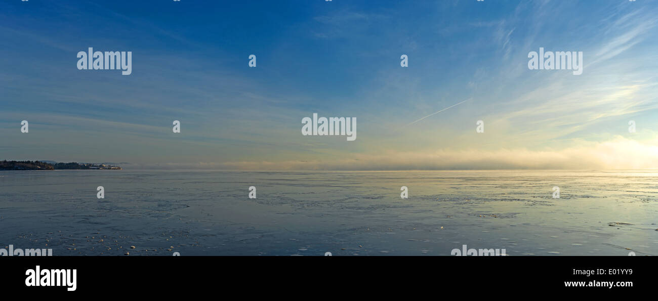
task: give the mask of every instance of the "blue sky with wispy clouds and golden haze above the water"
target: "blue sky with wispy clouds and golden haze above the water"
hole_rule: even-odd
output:
[[[655,0],[0,0],[0,160],[658,168],[656,16]],[[132,51],[132,74],[78,70],[89,47]],[[530,70],[540,47],[582,51],[582,74]],[[302,135],[313,113],[356,118],[357,139]]]

